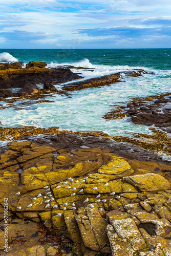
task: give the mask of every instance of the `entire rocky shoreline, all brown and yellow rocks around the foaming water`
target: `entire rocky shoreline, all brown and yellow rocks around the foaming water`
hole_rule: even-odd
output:
[[[0,100],[9,107],[16,99],[24,104],[51,93],[70,97],[68,91],[121,78],[117,73],[70,82],[58,91],[54,84],[81,77],[66,67],[47,69],[45,62],[21,64],[0,65]],[[23,89],[6,90],[14,87]],[[160,156],[171,154],[169,102],[170,93],[135,99],[105,115],[163,129],[132,138],[59,127],[0,127],[0,140],[12,140],[0,148],[0,255],[170,256],[171,162]]]

